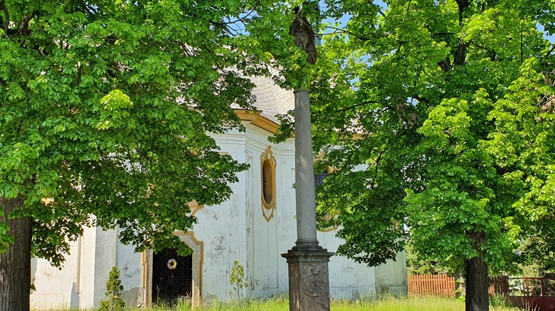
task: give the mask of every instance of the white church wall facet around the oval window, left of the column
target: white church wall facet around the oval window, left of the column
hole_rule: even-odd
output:
[[[268,151],[276,160],[275,167],[275,202],[271,212],[265,210],[261,197],[261,159]],[[268,297],[287,291],[287,263],[280,254],[295,243],[295,151],[292,140],[274,145],[268,142],[268,132],[255,127],[248,127],[246,146],[250,164],[248,171],[248,210],[247,231],[250,234],[248,248],[250,258],[247,267],[249,278],[249,295]],[[271,218],[266,219],[264,217]]]

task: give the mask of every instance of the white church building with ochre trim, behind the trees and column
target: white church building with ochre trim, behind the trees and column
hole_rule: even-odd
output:
[[[158,254],[134,253],[117,238],[117,230],[87,228],[73,242],[64,268],[58,270],[33,258],[31,307],[90,309],[105,299],[111,268],[120,269],[127,307],[149,307],[157,302],[189,297],[193,305],[236,296],[230,275],[234,261],[244,267],[248,298],[287,295],[287,263],[280,256],[295,245],[295,143],[290,138],[273,144],[268,137],[277,131],[276,114],[293,109],[292,92],[273,82],[253,78],[257,85],[258,112],[237,110],[246,131],[213,135],[221,152],[250,168],[238,174],[231,185],[233,195],[217,206],[190,204],[199,219],[191,231],[176,232],[193,249],[187,257],[173,250]],[[318,232],[319,244],[335,251],[341,240],[337,228]],[[172,259],[174,261],[172,261]],[[170,266],[176,263],[174,269]],[[173,267],[172,267],[173,268]],[[356,299],[379,293],[406,293],[405,253],[396,261],[368,267],[349,258],[332,256],[329,261],[330,295],[334,299]]]

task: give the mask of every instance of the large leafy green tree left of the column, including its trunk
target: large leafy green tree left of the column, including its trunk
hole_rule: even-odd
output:
[[[0,310],[28,310],[31,253],[60,266],[85,226],[189,251],[186,202],[226,200],[246,168],[207,133],[241,129],[231,104],[267,72],[240,31],[259,8],[0,0]]]

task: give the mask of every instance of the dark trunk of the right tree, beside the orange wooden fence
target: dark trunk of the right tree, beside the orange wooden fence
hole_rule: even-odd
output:
[[[466,311],[490,310],[490,293],[487,264],[482,256],[467,259],[466,263]]]

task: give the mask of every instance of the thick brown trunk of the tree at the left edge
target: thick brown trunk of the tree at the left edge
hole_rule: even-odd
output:
[[[4,209],[1,222],[9,226],[14,243],[0,253],[0,311],[28,311],[31,292],[31,217],[8,220],[8,215],[23,205],[23,197],[6,200],[0,197]]]

